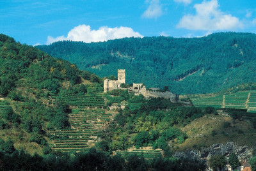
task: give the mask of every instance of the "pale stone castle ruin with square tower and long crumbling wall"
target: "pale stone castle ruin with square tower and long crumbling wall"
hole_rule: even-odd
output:
[[[128,89],[130,93],[134,93],[136,95],[142,94],[145,98],[166,98],[170,99],[173,103],[176,103],[179,100],[179,96],[175,93],[171,93],[170,91],[162,92],[159,88],[154,87],[147,90],[146,86],[143,84],[133,83],[129,88],[122,88],[120,85],[122,83],[125,84],[125,70],[118,70],[117,75],[117,80],[109,80],[108,78],[104,79],[104,93],[113,89]]]

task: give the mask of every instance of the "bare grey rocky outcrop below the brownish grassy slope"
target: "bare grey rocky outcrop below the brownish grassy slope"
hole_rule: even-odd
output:
[[[201,158],[207,159],[211,156],[221,154],[229,158],[230,154],[234,152],[239,160],[250,160],[253,157],[253,149],[244,145],[239,146],[236,142],[227,142],[225,144],[213,144],[207,148],[201,148],[200,150],[187,150],[175,152],[174,156],[177,158],[188,157],[188,158]]]

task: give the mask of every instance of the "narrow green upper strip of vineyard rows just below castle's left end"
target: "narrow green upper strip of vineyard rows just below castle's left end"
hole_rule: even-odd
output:
[[[55,100],[65,101],[70,106],[75,107],[102,107],[105,104],[104,98],[98,94],[88,95],[64,95],[64,96],[53,96]]]

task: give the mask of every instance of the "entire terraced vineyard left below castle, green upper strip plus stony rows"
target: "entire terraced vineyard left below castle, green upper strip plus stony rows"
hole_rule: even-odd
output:
[[[101,108],[105,102],[99,94],[65,95],[53,98],[56,101],[64,101],[72,107],[72,113],[68,114],[70,129],[50,131],[53,149],[81,151],[92,146],[99,128],[106,126],[113,117]]]

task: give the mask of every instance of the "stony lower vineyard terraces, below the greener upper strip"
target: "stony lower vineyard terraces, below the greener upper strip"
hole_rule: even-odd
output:
[[[103,128],[113,117],[105,110],[77,108],[69,114],[70,129],[53,130],[53,149],[61,151],[81,151],[95,143],[99,128]]]

